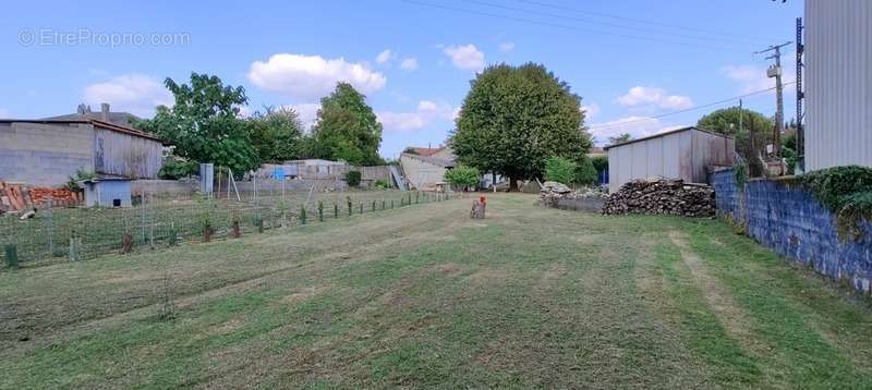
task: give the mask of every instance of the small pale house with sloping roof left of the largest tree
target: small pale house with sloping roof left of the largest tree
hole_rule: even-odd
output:
[[[455,154],[451,148],[411,147],[400,155],[400,164],[409,183],[419,190],[435,190],[445,183],[445,172],[455,168]],[[423,154],[422,154],[423,151]]]

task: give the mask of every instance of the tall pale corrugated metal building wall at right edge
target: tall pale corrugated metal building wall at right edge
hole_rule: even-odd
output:
[[[872,0],[806,0],[806,168],[872,166]]]

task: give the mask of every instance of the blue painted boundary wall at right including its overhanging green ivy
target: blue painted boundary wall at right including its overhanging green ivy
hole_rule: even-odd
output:
[[[746,180],[739,169],[712,175],[719,215],[782,256],[872,294],[872,223],[868,205],[850,200],[868,196],[855,191],[870,184],[867,173]],[[855,190],[840,188],[840,181]]]

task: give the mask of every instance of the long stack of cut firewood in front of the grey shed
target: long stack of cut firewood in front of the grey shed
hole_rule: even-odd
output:
[[[635,180],[608,196],[603,214],[661,214],[686,217],[715,215],[715,191],[683,180]]]

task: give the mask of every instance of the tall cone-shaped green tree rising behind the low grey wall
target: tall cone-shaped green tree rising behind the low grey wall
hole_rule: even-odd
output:
[[[341,159],[356,164],[383,162],[378,156],[382,123],[366,105],[366,97],[351,84],[336,89],[320,100],[317,121],[307,148],[314,158]]]

